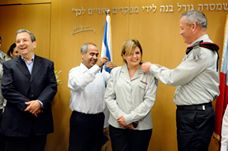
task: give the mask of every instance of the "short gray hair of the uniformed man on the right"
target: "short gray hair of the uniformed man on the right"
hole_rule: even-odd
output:
[[[183,13],[181,17],[186,17],[189,23],[197,23],[202,28],[207,28],[207,17],[203,12],[190,10]]]

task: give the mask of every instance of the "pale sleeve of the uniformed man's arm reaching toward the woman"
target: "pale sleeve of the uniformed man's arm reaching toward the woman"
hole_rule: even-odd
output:
[[[199,49],[196,49],[195,51],[199,51]],[[208,57],[207,53],[201,54],[198,59],[188,57],[175,69],[168,69],[152,64],[150,72],[164,84],[174,86],[184,85],[189,83],[208,67]]]

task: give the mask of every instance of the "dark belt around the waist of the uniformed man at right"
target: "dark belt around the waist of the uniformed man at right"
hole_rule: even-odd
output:
[[[178,110],[201,110],[204,111],[212,107],[212,103],[194,104],[194,105],[177,105]]]

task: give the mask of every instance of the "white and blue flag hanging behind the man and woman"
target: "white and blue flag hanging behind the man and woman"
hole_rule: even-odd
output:
[[[101,57],[107,57],[108,61],[112,61],[112,44],[111,44],[111,18],[109,14],[106,15],[104,37],[101,47]],[[110,72],[110,69],[104,66],[104,70]]]

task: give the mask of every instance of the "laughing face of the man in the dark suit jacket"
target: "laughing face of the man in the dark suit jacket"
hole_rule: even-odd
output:
[[[16,35],[16,45],[16,49],[23,57],[33,54],[36,48],[36,42],[31,40],[27,32],[21,32]]]

